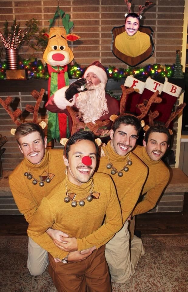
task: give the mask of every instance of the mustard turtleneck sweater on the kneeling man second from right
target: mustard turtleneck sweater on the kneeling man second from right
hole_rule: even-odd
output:
[[[132,152],[128,153],[126,156],[116,154],[110,145],[110,141],[107,143],[106,147],[103,147],[103,150],[106,156],[100,158],[98,171],[107,173],[112,177],[120,201],[124,223],[136,205],[139,194],[146,180],[148,169],[147,166]],[[119,171],[123,169],[128,157],[132,160],[133,164],[128,166],[128,172],[123,171],[122,177],[119,177],[117,173],[112,175],[111,169],[106,168],[106,165],[110,161]]]

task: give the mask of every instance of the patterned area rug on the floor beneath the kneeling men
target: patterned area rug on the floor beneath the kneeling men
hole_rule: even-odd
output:
[[[112,282],[112,292],[187,292],[188,235],[142,238],[146,253],[134,276],[123,285]],[[57,291],[48,270],[41,276],[29,274],[27,241],[26,236],[0,236],[0,292]]]

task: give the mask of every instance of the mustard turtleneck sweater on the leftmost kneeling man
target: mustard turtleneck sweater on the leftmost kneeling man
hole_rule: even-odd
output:
[[[24,176],[25,172],[32,173],[32,176],[40,180],[39,176],[46,176],[46,172],[52,173],[55,176],[51,182],[44,183],[44,186],[32,184],[33,179],[27,179]],[[45,155],[39,165],[32,164],[27,158],[15,168],[9,176],[9,185],[13,194],[14,200],[20,213],[28,223],[32,220],[41,200],[48,195],[55,185],[65,178],[66,166],[63,161],[63,150],[45,150]]]

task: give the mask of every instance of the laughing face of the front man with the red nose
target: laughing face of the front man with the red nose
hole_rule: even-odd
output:
[[[82,158],[89,156],[92,164],[85,165]],[[95,144],[90,140],[80,140],[70,145],[68,160],[64,158],[65,165],[68,166],[68,179],[77,186],[88,182],[92,177],[97,163],[97,152]]]

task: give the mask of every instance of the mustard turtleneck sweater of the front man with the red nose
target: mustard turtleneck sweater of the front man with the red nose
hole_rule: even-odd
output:
[[[79,204],[72,207],[71,202],[64,202],[66,189],[70,193],[76,193],[75,200],[82,200],[89,195],[92,182],[93,192],[100,193],[99,199],[93,199],[91,202],[85,200],[83,207]],[[105,214],[105,223],[102,225]],[[81,186],[74,185],[66,178],[43,198],[35,213],[35,220],[29,225],[28,236],[53,257],[63,259],[68,252],[57,248],[45,232],[51,226],[53,229],[63,230],[70,237],[76,237],[78,250],[94,245],[98,249],[106,244],[122,227],[119,201],[110,176],[95,173],[89,182]]]

